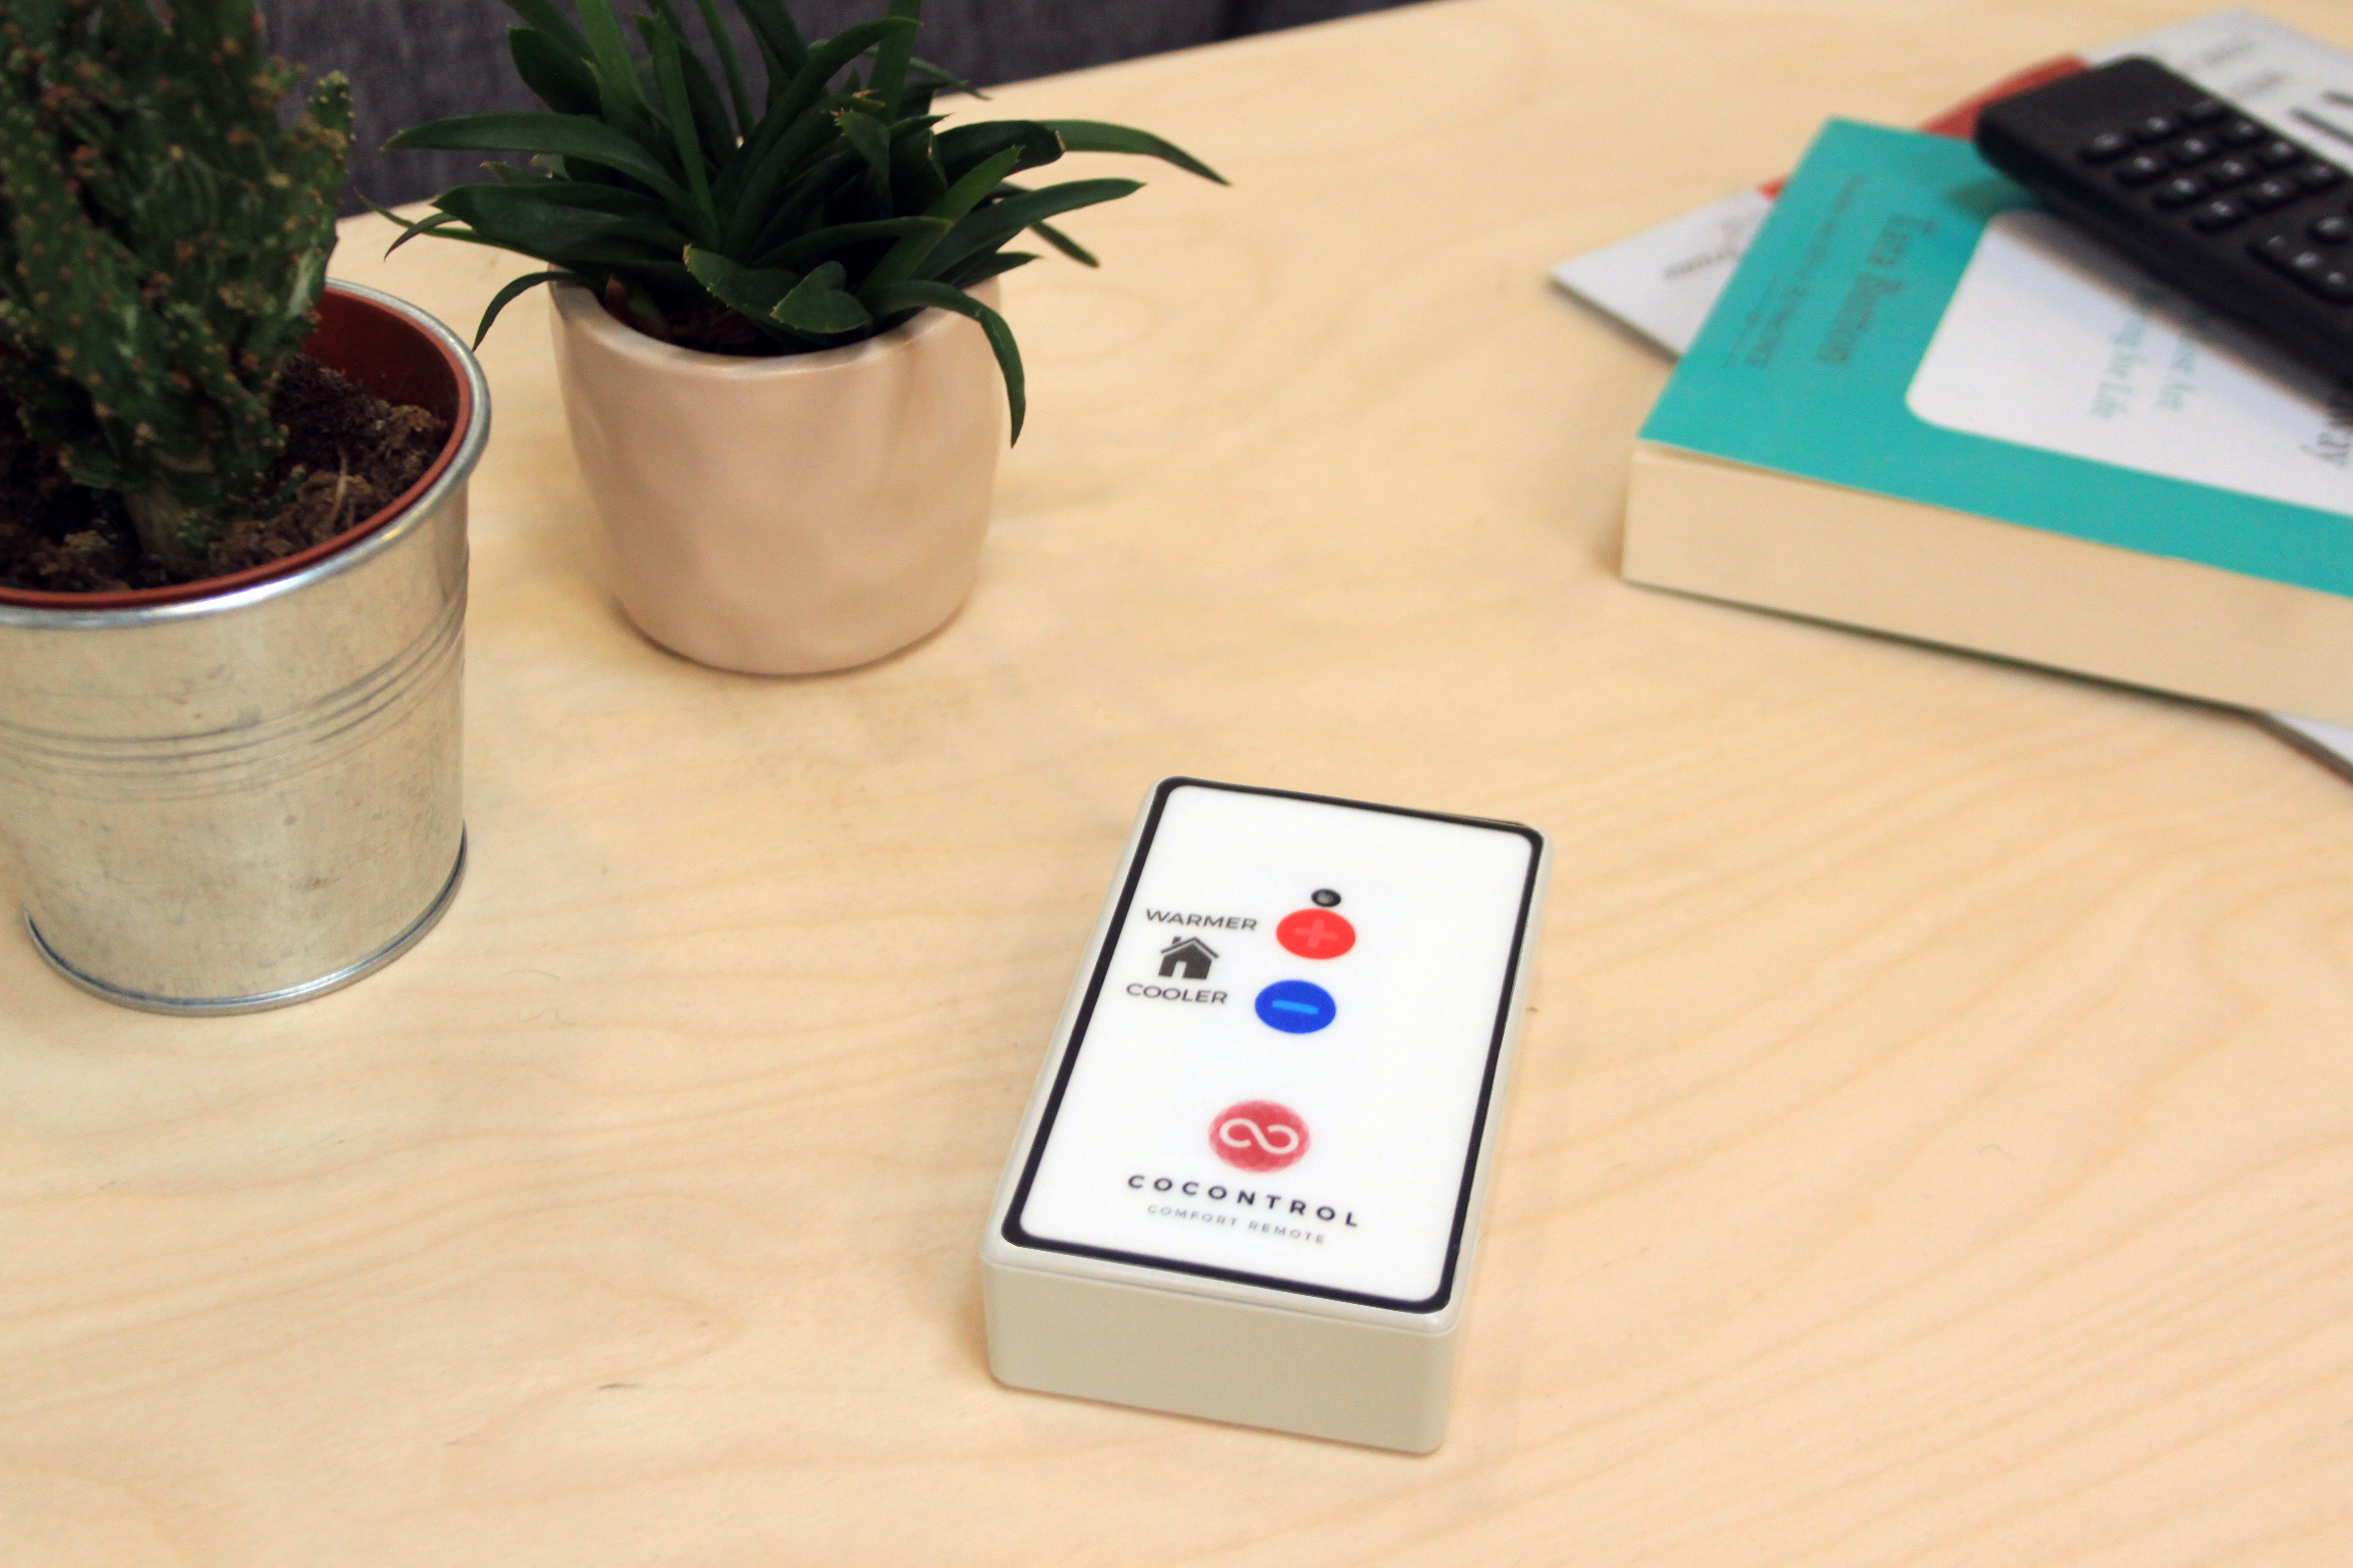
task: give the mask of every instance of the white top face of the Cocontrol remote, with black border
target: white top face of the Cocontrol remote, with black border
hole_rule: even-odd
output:
[[[1442,1309],[1541,851],[1508,823],[1162,783],[1005,1239]]]

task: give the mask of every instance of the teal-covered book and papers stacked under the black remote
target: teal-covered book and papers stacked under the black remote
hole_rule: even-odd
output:
[[[2299,33],[2224,12],[2089,59],[2129,52],[2353,153],[2353,59]],[[1708,223],[1706,261],[1659,261]],[[1833,120],[1777,197],[1555,277],[1671,348],[1699,322],[1635,451],[1628,581],[2353,745],[2332,729],[2353,726],[2353,388],[2078,237],[1965,141]]]

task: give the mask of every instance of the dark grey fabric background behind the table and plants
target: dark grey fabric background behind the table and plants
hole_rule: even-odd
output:
[[[915,52],[988,87],[1398,2],[932,0]],[[885,12],[882,0],[788,5],[807,38],[828,38]],[[642,7],[624,0],[619,9]],[[692,21],[692,2],[678,9]],[[720,9],[734,14],[732,5]],[[400,127],[492,108],[539,108],[508,63],[506,28],[515,14],[499,0],[266,0],[264,12],[275,54],[351,78],[358,115],[351,183],[379,202],[424,200],[475,179],[482,162],[478,153],[384,153],[384,141]],[[758,52],[744,45],[741,54],[746,68],[758,73]],[[358,212],[358,200],[346,195],[344,209]]]

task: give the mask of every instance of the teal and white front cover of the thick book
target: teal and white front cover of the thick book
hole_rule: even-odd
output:
[[[1821,129],[1642,440],[2353,595],[2353,390],[1944,136]]]

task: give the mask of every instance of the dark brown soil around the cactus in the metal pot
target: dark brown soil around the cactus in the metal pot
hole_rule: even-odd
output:
[[[287,362],[271,414],[287,449],[264,494],[301,470],[292,501],[273,517],[240,522],[195,571],[174,574],[139,555],[115,494],[68,480],[52,451],[24,437],[16,411],[0,407],[0,588],[122,592],[268,567],[374,517],[449,440],[449,421],[386,402],[311,355]]]

